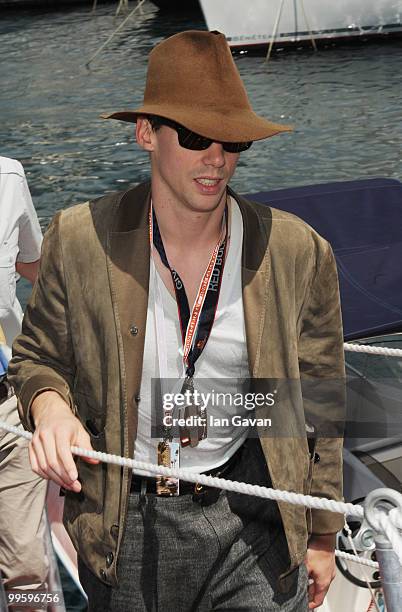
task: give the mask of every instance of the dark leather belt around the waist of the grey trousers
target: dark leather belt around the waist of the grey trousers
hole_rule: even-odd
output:
[[[233,468],[239,463],[242,454],[243,446],[240,448],[224,463],[217,468],[209,470],[208,472],[202,472],[206,476],[227,477]],[[156,494],[156,478],[153,476],[136,476],[133,475],[131,478],[131,493],[140,493],[143,491],[146,494]],[[207,487],[198,483],[187,482],[180,480],[179,495],[193,495],[193,499],[197,498],[197,501],[204,497],[204,494],[209,493],[212,497],[219,496],[220,489],[215,487]],[[216,495],[215,495],[216,494]],[[196,501],[196,499],[194,499]],[[216,501],[216,500],[215,500]]]

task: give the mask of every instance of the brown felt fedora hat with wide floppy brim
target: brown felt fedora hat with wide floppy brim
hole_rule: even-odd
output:
[[[143,105],[102,117],[135,123],[139,115],[165,117],[221,142],[261,140],[293,129],[254,113],[220,32],[189,30],[156,45]]]

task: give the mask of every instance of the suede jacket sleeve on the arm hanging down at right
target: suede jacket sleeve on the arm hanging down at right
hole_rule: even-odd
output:
[[[315,430],[310,440],[309,493],[342,500],[345,410],[342,317],[335,258],[329,244],[320,237],[316,243],[315,273],[301,317],[299,368],[303,402],[306,422],[313,422]],[[343,525],[341,514],[311,510],[313,534],[336,533]]]

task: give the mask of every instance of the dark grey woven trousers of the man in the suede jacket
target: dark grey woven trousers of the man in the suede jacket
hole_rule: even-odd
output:
[[[259,440],[248,440],[231,480],[269,486]],[[221,492],[202,506],[191,495],[132,493],[118,563],[118,588],[104,585],[79,561],[89,610],[305,612],[307,571],[278,589],[288,548],[276,502]]]

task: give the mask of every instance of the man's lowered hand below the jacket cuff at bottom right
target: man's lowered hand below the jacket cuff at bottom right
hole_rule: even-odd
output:
[[[335,538],[330,535],[311,536],[304,560],[308,577],[309,610],[321,606],[329,585],[335,578]]]

